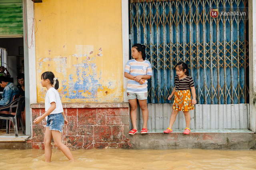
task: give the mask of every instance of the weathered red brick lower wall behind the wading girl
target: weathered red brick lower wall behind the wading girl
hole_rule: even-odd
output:
[[[44,105],[32,104],[32,120],[44,114]],[[65,108],[65,106],[73,108]],[[78,148],[130,148],[126,136],[129,131],[129,110],[127,104],[96,105],[100,108],[74,108],[64,104],[69,124],[63,126],[63,142],[73,149]],[[124,106],[124,107],[123,107]],[[79,107],[88,107],[81,106]],[[92,105],[90,105],[92,107]],[[106,107],[106,108],[102,108]],[[41,109],[40,109],[41,108]],[[45,119],[32,125],[32,148],[44,148]],[[52,142],[54,147],[54,142]]]

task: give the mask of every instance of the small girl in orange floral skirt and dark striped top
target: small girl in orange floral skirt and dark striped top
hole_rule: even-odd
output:
[[[183,111],[185,120],[186,120],[186,128],[184,130],[184,134],[190,133],[190,114],[189,111],[194,109],[194,105],[196,104],[196,89],[194,86],[194,81],[188,72],[188,65],[183,61],[180,61],[176,66],[176,76],[174,78],[174,90],[172,94],[168,97],[168,100],[172,98],[174,95],[174,101],[172,106],[172,115],[170,118],[169,127],[164,130],[164,133],[172,132],[172,126],[176,120],[176,116],[179,111]],[[190,89],[192,92],[192,99],[190,94]]]

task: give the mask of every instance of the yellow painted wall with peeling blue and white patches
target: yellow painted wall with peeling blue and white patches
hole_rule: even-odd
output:
[[[34,4],[38,102],[44,71],[60,81],[62,103],[123,101],[121,12],[121,0]]]

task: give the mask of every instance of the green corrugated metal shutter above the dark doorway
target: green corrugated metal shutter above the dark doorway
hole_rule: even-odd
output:
[[[0,37],[23,36],[22,0],[0,0]]]

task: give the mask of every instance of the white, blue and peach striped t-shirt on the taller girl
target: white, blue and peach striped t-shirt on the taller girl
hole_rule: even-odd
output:
[[[151,75],[152,68],[148,60],[142,62],[136,61],[135,59],[130,59],[126,66],[124,72],[129,73],[130,75]],[[146,93],[148,92],[148,81],[145,81],[144,84],[140,84],[135,80],[128,79],[127,82],[127,92],[130,93]]]

